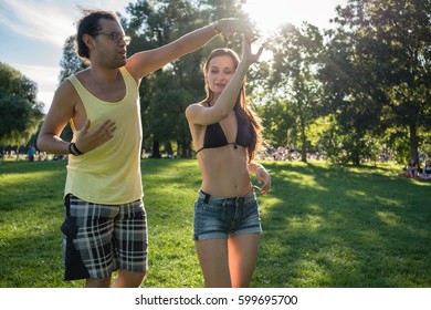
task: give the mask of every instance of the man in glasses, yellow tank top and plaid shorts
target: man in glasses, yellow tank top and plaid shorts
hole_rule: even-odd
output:
[[[90,11],[77,24],[80,56],[91,66],[56,90],[38,146],[69,154],[64,190],[65,279],[86,287],[139,287],[147,270],[147,227],[140,177],[143,76],[197,50],[216,34],[251,34],[249,23],[222,19],[161,48],[126,58],[130,42],[118,18]],[[72,143],[60,137],[71,122]]]

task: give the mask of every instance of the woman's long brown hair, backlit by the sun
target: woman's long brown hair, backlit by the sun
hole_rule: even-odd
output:
[[[238,68],[238,64],[240,63],[240,58],[238,54],[231,50],[231,49],[217,49],[211,52],[209,55],[207,62],[203,65],[203,75],[207,78],[208,74],[208,66],[212,59],[217,56],[222,55],[229,55],[233,59],[233,62],[235,64],[235,70]],[[210,90],[208,85],[208,81],[206,79],[206,93],[207,97],[202,102],[210,102],[213,97],[213,92]],[[238,118],[238,125],[245,124],[246,128],[249,128],[251,136],[252,136],[252,143],[248,147],[248,155],[249,155],[249,163],[255,157],[256,153],[260,151],[262,146],[262,122],[259,118],[259,116],[248,106],[246,104],[246,96],[245,96],[245,78],[241,86],[241,91],[238,95],[235,106],[233,108],[235,112],[236,118]]]

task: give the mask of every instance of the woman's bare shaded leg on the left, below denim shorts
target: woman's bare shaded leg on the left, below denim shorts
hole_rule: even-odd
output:
[[[196,241],[200,267],[208,288],[230,288],[231,278],[228,264],[228,242],[225,239]]]

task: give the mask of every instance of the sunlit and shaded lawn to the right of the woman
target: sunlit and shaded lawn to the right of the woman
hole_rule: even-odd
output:
[[[431,209],[420,202],[431,184],[375,167],[266,168],[256,286],[430,287]]]

